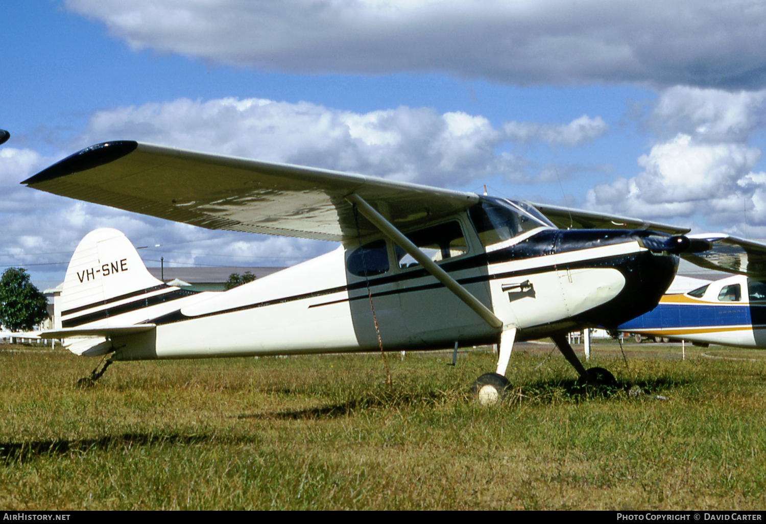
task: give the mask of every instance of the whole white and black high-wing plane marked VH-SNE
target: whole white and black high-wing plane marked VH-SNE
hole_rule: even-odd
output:
[[[582,379],[614,381],[584,368],[566,334],[653,309],[679,254],[703,248],[662,224],[545,207],[590,224],[580,227],[627,228],[565,230],[522,201],[132,141],[83,149],[22,183],[203,228],[341,243],[194,294],[151,277],[119,231],[91,232],[67,270],[62,325],[41,336],[75,339],[72,351],[108,354],[106,365],[499,342],[495,372],[473,388],[492,400],[514,341],[550,336]]]

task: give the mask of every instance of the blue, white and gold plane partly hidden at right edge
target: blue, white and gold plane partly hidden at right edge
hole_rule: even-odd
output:
[[[766,245],[727,234],[691,237],[711,248],[686,254],[688,260],[735,276],[665,295],[656,308],[618,329],[700,345],[766,347]]]

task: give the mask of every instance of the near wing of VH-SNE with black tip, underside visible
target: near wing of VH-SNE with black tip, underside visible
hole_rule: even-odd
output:
[[[378,232],[355,216],[345,200],[352,193],[398,228],[479,201],[475,193],[133,141],[90,146],[21,183],[202,228],[326,241]]]

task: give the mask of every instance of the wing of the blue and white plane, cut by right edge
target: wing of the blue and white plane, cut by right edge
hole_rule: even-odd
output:
[[[747,275],[755,280],[766,280],[766,244],[725,233],[687,235],[711,244],[708,251],[687,253],[682,256],[692,264],[706,269]]]

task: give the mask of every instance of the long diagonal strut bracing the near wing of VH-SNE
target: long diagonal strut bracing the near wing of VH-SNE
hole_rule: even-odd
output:
[[[485,306],[480,302],[479,299],[476,298],[476,296],[473,296],[468,292],[468,290],[466,290],[466,288],[457,283],[457,280],[453,279],[453,277],[450,277],[450,275],[447,274],[447,271],[437,266],[434,260],[431,260],[427,254],[424,254],[424,252],[421,251],[415,244],[413,244],[408,237],[405,237],[404,234],[401,234],[401,231],[395,228],[394,224],[391,224],[391,222],[386,220],[383,215],[378,213],[378,211],[375,211],[375,209],[372,208],[372,206],[369,205],[364,200],[364,198],[355,193],[352,193],[351,195],[346,196],[345,199],[356,205],[359,209],[359,212],[362,213],[362,215],[364,215],[368,221],[371,221],[375,227],[383,232],[383,234],[391,238],[392,241],[399,244],[399,246],[404,249],[408,255],[417,260],[417,262],[419,262],[429,273],[434,275],[434,277],[436,277],[440,283],[443,283],[444,287],[454,293],[457,298],[463,300],[463,302],[466,303],[466,305],[471,309],[473,309],[476,314],[482,317],[482,319],[484,319],[486,323],[489,324],[489,326],[492,326],[496,329],[502,328],[502,320],[497,318],[495,314],[490,311],[489,308],[487,308],[487,306]]]

